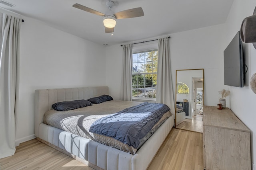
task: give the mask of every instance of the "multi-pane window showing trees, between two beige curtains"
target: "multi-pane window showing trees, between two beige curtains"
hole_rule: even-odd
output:
[[[156,98],[157,49],[132,53],[132,98]]]

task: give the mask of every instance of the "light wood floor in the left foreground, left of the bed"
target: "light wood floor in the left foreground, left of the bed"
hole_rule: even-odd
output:
[[[36,139],[21,143],[0,163],[1,170],[94,170]]]

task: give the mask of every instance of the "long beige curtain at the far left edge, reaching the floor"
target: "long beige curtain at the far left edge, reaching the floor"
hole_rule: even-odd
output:
[[[0,13],[0,158],[15,152],[17,70],[21,19]]]

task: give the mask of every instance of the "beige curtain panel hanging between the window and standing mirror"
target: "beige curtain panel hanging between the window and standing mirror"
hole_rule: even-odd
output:
[[[158,39],[156,102],[166,104],[175,114],[168,40],[168,37]]]

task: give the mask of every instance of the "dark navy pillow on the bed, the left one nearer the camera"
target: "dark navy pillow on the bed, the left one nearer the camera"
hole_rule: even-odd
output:
[[[68,111],[78,109],[80,107],[91,106],[92,103],[87,100],[73,100],[68,102],[58,102],[52,105],[54,110]]]

